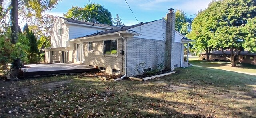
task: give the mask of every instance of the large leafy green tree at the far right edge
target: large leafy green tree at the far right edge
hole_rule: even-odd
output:
[[[255,52],[255,0],[223,0],[216,10],[217,46],[231,51],[231,67],[239,61],[244,49]],[[252,43],[252,44],[251,44]]]

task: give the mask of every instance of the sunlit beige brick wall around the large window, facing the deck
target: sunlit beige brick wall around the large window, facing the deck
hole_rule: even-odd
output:
[[[103,41],[93,42],[93,51],[88,51],[88,42],[83,43],[84,48],[84,65],[93,65],[106,68],[106,73],[112,74],[112,69],[120,70],[120,74],[124,75],[124,55],[120,54],[122,49],[122,39],[118,39],[118,55],[103,55]],[[124,41],[123,41],[124,49]]]

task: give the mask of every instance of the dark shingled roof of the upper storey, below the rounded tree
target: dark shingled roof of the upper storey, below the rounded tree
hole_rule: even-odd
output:
[[[64,17],[60,17],[68,22],[71,23],[76,23],[76,24],[85,24],[85,25],[91,25],[91,26],[99,26],[99,27],[105,27],[105,28],[118,28],[116,26],[110,26],[110,25],[106,25],[106,24],[98,24],[98,23],[93,23],[93,22],[86,22],[83,20],[75,20],[75,19],[70,19],[70,18],[64,18]]]

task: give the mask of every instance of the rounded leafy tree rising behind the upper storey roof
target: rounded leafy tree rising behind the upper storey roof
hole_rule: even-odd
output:
[[[97,23],[112,25],[111,12],[100,4],[87,4],[83,8],[72,6],[64,16],[89,22],[95,19]]]

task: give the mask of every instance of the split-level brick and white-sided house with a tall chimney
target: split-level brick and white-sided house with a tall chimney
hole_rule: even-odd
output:
[[[59,17],[51,33],[46,62],[81,63],[113,75],[188,67],[184,43],[192,40],[175,30],[175,13],[165,19],[115,27]]]

